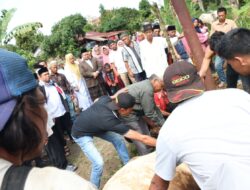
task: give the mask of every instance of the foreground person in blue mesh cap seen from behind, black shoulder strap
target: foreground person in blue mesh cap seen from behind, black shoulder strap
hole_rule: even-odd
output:
[[[0,49],[0,92],[1,188],[95,189],[73,172],[21,166],[41,155],[47,139],[47,113],[44,96],[37,89],[26,60],[3,49]]]

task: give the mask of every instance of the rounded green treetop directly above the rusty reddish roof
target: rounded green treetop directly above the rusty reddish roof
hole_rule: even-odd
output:
[[[109,32],[128,30],[134,32],[140,29],[140,12],[136,9],[122,7],[113,10],[104,10],[100,18],[99,30]]]

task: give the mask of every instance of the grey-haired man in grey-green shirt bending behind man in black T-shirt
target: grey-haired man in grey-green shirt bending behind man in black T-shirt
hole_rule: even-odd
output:
[[[123,116],[122,120],[133,130],[144,134],[150,135],[147,123],[142,118],[146,116],[153,121],[158,128],[165,122],[161,111],[155,105],[154,92],[159,92],[163,89],[163,81],[156,75],[152,75],[146,79],[126,87],[128,93],[135,98],[135,105],[133,112],[128,116]],[[139,155],[145,155],[152,152],[152,148],[145,144],[133,140]]]

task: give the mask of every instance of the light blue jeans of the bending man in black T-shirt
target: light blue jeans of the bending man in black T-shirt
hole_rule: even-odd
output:
[[[114,145],[123,164],[125,165],[126,163],[128,163],[130,157],[128,154],[126,144],[121,135],[116,134],[114,132],[105,132],[95,136],[111,142]],[[87,156],[87,158],[91,161],[92,169],[91,169],[90,182],[99,188],[101,175],[103,172],[103,158],[93,143],[93,137],[83,136],[80,138],[74,138],[74,140],[80,146],[80,148],[82,149],[83,153]]]

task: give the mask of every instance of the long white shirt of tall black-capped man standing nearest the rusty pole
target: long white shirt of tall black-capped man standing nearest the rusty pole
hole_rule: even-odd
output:
[[[166,39],[162,37],[154,37],[152,43],[149,43],[147,39],[140,42],[142,66],[147,73],[147,77],[156,74],[163,78],[168,67],[166,47]]]

